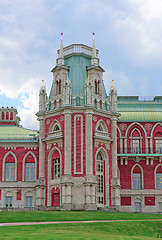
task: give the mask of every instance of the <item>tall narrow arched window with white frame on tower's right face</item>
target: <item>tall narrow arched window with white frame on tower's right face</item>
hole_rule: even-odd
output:
[[[96,159],[96,176],[97,176],[97,189],[96,198],[97,206],[103,207],[104,205],[104,161],[101,152],[98,152]]]

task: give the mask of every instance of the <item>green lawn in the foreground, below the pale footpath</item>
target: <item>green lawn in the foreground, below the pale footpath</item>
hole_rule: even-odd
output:
[[[162,221],[72,223],[0,227],[3,240],[157,239]]]

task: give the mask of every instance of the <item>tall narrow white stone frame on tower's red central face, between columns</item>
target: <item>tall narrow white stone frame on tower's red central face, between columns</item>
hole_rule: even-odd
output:
[[[81,119],[81,148],[80,148],[80,153],[81,153],[81,159],[80,159],[80,164],[81,164],[81,171],[77,172],[76,169],[76,120]],[[75,115],[74,116],[74,174],[83,174],[83,116],[82,115]]]

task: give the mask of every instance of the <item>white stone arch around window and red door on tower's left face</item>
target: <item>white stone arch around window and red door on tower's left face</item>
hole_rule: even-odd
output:
[[[51,165],[52,165],[52,155],[55,151],[58,151],[59,154],[60,154],[60,178],[61,178],[61,173],[62,173],[62,154],[61,154],[61,151],[59,148],[57,147],[53,147],[49,154],[48,154],[48,189],[47,189],[47,194],[48,194],[48,199],[47,199],[47,203],[48,203],[48,206],[51,206],[51,189],[50,189],[50,180],[51,180]],[[60,196],[61,197],[61,196]]]

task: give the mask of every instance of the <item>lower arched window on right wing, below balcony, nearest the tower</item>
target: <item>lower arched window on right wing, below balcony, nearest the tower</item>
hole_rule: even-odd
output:
[[[133,168],[133,189],[142,189],[142,174],[139,166]]]

